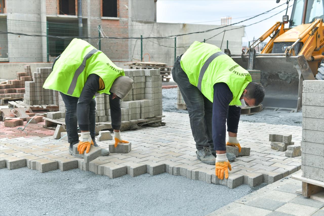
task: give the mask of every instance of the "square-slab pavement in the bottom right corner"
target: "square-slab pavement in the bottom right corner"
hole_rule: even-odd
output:
[[[301,182],[292,179],[289,175],[208,214],[208,216],[324,215],[323,202],[305,198],[296,193],[296,189],[301,189]]]

